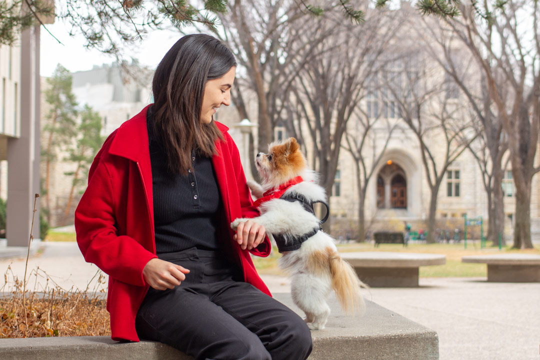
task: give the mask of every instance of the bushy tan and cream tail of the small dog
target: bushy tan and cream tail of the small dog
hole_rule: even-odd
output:
[[[332,288],[346,314],[362,314],[365,309],[360,287],[367,285],[358,279],[354,268],[341,259],[338,252],[329,254],[330,272],[332,273]]]

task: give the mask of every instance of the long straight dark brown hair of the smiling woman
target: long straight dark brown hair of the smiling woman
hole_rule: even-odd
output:
[[[159,63],[152,81],[153,129],[171,172],[192,169],[193,150],[206,157],[216,153],[214,142],[223,139],[220,130],[214,121],[200,122],[205,84],[233,66],[237,62],[231,50],[204,34],[180,38]]]

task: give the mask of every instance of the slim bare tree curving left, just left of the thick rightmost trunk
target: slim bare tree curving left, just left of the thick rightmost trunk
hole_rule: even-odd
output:
[[[502,119],[497,116],[497,108],[487,91],[486,77],[482,72],[478,75],[478,64],[470,54],[455,32],[448,26],[423,19],[423,26],[417,27],[417,33],[423,38],[429,51],[430,58],[434,59],[462,91],[469,102],[469,116],[472,126],[478,133],[477,141],[469,145],[470,153],[475,158],[482,173],[482,181],[488,198],[488,241],[494,246],[498,245],[504,236],[504,198],[502,181],[504,171],[502,160],[508,150],[507,137],[503,134]],[[467,142],[467,140],[466,140]]]

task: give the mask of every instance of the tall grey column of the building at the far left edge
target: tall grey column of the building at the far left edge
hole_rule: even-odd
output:
[[[28,246],[34,197],[39,193],[39,25],[21,33],[19,127],[19,137],[8,140],[8,246]],[[33,237],[39,238],[39,212]]]

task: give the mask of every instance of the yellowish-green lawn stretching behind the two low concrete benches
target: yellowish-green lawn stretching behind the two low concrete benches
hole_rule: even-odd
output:
[[[411,243],[408,247],[397,244],[381,244],[375,248],[370,243],[349,243],[339,244],[338,250],[341,253],[348,252],[403,252],[403,253],[424,253],[446,255],[446,264],[437,266],[423,266],[420,268],[420,277],[485,277],[487,276],[487,266],[485,264],[462,263],[461,257],[465,255],[487,255],[501,253],[524,253],[540,254],[540,249],[513,250],[509,247],[499,250],[498,248],[480,248],[480,242],[468,242],[467,250],[461,244],[416,244]],[[286,275],[278,267],[278,259],[281,255],[277,249],[272,249],[272,254],[265,258],[253,257],[255,267],[260,274]]]

